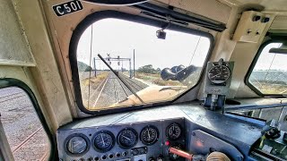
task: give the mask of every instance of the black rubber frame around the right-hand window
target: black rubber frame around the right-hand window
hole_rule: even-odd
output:
[[[286,38],[286,37],[285,37]],[[252,89],[259,95],[260,97],[284,97],[282,94],[264,94],[259,89],[257,89],[252,83],[249,81],[250,75],[253,72],[255,65],[257,64],[257,61],[263,51],[263,49],[268,46],[271,43],[283,43],[283,37],[274,37],[274,38],[268,38],[265,40],[264,43],[261,44],[261,46],[257,50],[257,54],[255,55],[249,69],[247,72],[247,75],[245,77],[245,84],[248,86],[248,88]]]

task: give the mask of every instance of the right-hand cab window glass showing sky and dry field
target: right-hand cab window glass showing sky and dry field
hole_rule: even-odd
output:
[[[282,45],[283,43],[265,45],[248,77],[250,85],[264,95],[287,93],[287,55],[273,51]]]

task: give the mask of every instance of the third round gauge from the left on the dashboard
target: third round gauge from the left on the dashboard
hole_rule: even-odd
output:
[[[126,128],[117,135],[117,143],[121,148],[132,148],[137,142],[137,133],[134,129]]]

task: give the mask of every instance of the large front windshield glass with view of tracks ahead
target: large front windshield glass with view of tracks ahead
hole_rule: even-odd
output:
[[[83,106],[100,110],[172,100],[196,85],[210,46],[209,38],[189,33],[96,21],[77,47]]]

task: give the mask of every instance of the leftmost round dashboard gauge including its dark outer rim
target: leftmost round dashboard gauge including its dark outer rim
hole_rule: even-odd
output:
[[[65,140],[66,151],[70,155],[81,155],[85,153],[89,147],[89,139],[80,133],[74,133]]]

